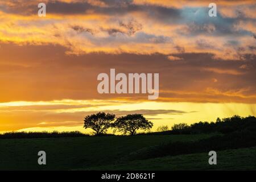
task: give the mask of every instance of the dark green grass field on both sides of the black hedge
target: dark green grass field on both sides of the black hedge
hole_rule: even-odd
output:
[[[254,168],[256,151],[243,148],[218,152],[218,165],[208,164],[208,154],[165,156],[119,164],[120,159],[142,148],[166,142],[193,141],[216,134],[137,135],[113,137],[0,139],[0,170],[58,169],[237,169]],[[46,151],[47,165],[38,165],[38,151]]]

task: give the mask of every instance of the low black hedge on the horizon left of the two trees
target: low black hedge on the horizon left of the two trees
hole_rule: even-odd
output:
[[[11,139],[11,138],[60,138],[60,137],[88,137],[88,134],[83,134],[79,131],[70,132],[9,132],[0,134],[0,139]]]

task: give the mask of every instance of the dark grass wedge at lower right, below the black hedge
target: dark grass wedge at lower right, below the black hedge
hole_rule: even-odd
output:
[[[83,170],[256,170],[256,147],[217,152],[217,165],[209,165],[208,153],[135,160]]]

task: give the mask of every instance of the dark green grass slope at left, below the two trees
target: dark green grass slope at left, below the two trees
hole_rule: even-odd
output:
[[[0,170],[92,168],[115,164],[123,156],[144,147],[170,141],[199,140],[212,135],[0,139]],[[37,154],[40,150],[47,154],[45,166],[38,165]]]

